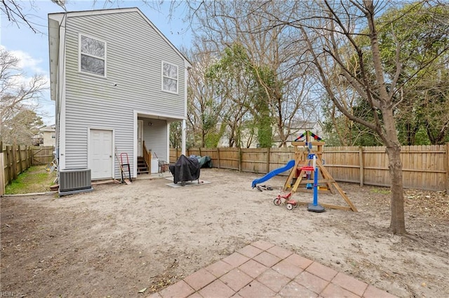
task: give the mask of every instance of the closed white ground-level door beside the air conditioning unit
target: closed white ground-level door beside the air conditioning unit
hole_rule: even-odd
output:
[[[112,178],[112,130],[91,129],[89,166],[92,179]]]

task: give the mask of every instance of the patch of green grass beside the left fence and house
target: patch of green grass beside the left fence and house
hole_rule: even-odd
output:
[[[56,178],[56,171],[46,171],[46,166],[31,166],[5,187],[5,194],[29,194],[48,192]]]

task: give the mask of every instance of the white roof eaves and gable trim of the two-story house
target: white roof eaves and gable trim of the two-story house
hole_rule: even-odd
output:
[[[173,48],[173,50],[179,55],[182,59],[184,59],[185,67],[187,69],[192,68],[192,63],[189,62],[189,59],[185,57],[185,55],[182,54],[173,43],[171,43],[166,36],[162,34],[159,29],[157,29],[156,26],[148,19],[146,15],[140,11],[139,8],[133,7],[133,8],[116,8],[116,9],[104,9],[104,10],[82,10],[82,11],[70,11],[67,13],[49,13],[48,14],[48,41],[49,41],[49,52],[50,52],[50,94],[51,99],[56,99],[56,76],[57,76],[57,68],[58,68],[58,58],[59,58],[59,38],[60,38],[60,26],[62,22],[65,22],[65,18],[67,17],[82,17],[82,16],[91,16],[91,15],[106,15],[106,14],[112,14],[112,13],[138,13],[142,16],[142,18],[149,24],[154,31],[156,31],[161,38],[163,38],[168,45],[170,45],[170,48]],[[63,49],[62,49],[63,50]]]

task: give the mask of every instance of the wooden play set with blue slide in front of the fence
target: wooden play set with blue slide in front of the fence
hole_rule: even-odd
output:
[[[356,206],[352,204],[349,197],[347,197],[346,193],[323,165],[322,155],[325,142],[323,142],[319,136],[316,136],[316,134],[307,131],[298,136],[295,141],[291,142],[291,144],[295,147],[295,159],[290,160],[285,166],[282,166],[279,169],[270,171],[262,178],[253,180],[251,186],[253,188],[257,187],[257,184],[263,183],[264,181],[291,169],[286,183],[283,185],[283,190],[287,191],[290,189],[290,192],[288,192],[288,194],[278,194],[273,201],[276,206],[284,202],[288,210],[291,210],[298,205],[307,205],[307,210],[311,212],[323,212],[325,211],[325,208],[357,212]],[[318,194],[335,194],[334,188],[344,201],[346,201],[348,206],[318,204]],[[313,202],[310,203],[292,199],[293,194],[297,191],[313,192]]]

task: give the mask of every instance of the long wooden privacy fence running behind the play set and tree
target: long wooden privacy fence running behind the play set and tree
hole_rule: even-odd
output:
[[[305,149],[304,149],[305,150]],[[402,146],[403,185],[421,190],[449,192],[449,143]],[[176,162],[180,149],[170,149]],[[294,158],[291,148],[189,148],[186,155],[210,156],[214,167],[263,175]],[[324,147],[323,161],[337,181],[391,186],[385,147]],[[288,176],[288,171],[282,175]]]

